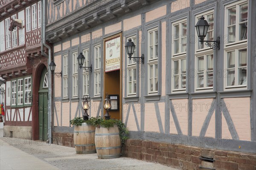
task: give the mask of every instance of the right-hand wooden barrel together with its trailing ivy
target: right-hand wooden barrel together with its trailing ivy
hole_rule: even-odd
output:
[[[95,146],[99,159],[112,159],[121,156],[121,148],[128,139],[128,130],[121,120],[91,117],[86,121],[96,127]]]

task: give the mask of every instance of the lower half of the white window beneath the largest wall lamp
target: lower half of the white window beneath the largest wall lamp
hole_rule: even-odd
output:
[[[196,88],[213,87],[213,54],[197,57],[197,85]]]

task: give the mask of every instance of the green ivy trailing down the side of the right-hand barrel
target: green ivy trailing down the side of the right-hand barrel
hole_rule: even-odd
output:
[[[97,116],[97,117],[91,117],[89,120],[85,122],[98,128],[100,127],[109,128],[109,127],[114,127],[114,125],[117,125],[122,145],[125,144],[125,140],[129,139],[128,137],[129,131],[125,126],[125,124],[121,122],[121,120],[117,120],[117,119],[105,120],[105,119],[102,119],[101,116]]]

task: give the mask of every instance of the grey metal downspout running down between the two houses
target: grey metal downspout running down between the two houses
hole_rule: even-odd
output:
[[[42,35],[42,44],[41,44],[41,54],[44,57],[48,58],[48,73],[51,73],[50,68],[49,68],[49,64],[51,62],[51,47],[49,45],[47,45],[45,43],[45,27],[46,27],[46,0],[41,0],[41,4],[42,4],[42,20],[41,20],[41,35]],[[48,54],[49,56],[47,56],[47,54],[44,53],[44,46],[48,48]],[[49,140],[49,144],[52,144],[52,116],[53,116],[53,111],[52,111],[52,89],[53,89],[53,84],[52,84],[52,74],[48,74],[48,140]]]

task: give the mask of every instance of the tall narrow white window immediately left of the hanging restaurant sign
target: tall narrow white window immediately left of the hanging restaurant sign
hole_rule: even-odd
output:
[[[94,46],[94,62],[95,62],[95,70],[94,70],[94,95],[100,95],[100,67],[101,67],[101,46]]]

